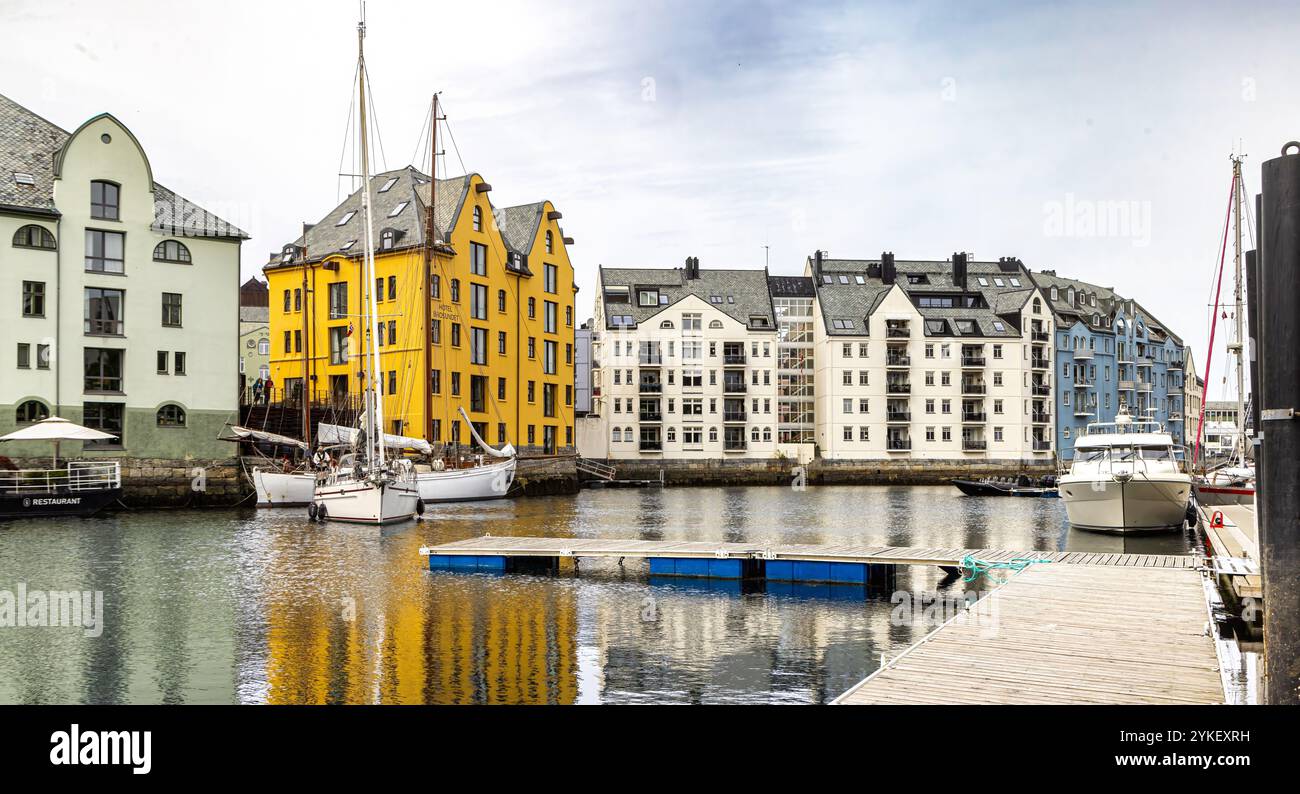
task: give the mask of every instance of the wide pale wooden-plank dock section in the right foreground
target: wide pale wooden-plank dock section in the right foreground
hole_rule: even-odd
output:
[[[1225,702],[1201,572],[1134,565],[1031,565],[835,700]]]

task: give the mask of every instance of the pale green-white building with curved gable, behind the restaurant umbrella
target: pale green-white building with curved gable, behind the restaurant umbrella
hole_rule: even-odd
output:
[[[0,433],[58,415],[121,437],[65,455],[229,457],[243,239],[112,116],[69,134],[0,96]]]

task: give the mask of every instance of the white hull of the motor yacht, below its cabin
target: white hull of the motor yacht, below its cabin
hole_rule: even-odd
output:
[[[1187,516],[1190,477],[1128,482],[1074,480],[1058,483],[1070,525],[1097,531],[1131,533],[1175,529]]]

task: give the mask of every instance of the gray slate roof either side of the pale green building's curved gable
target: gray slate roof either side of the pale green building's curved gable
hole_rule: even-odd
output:
[[[72,135],[0,94],[0,207],[57,214],[55,157]],[[34,186],[14,173],[31,174]],[[181,237],[248,235],[174,191],[153,183],[153,227]]]

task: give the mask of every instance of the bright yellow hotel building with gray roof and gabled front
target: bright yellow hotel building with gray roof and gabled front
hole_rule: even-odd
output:
[[[355,404],[361,334],[369,333],[363,311],[374,290],[389,431],[472,444],[463,407],[489,443],[510,442],[525,455],[572,452],[577,287],[560,213],[550,201],[495,209],[478,174],[438,179],[438,240],[425,283],[429,177],[386,172],[373,177],[372,191],[376,283],[361,283],[360,190],[264,268],[273,399],[292,402],[307,383],[317,404]]]

